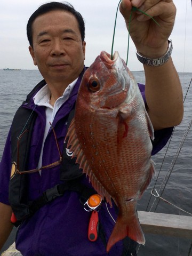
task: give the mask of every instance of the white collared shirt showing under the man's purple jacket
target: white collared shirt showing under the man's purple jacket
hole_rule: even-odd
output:
[[[46,114],[45,132],[44,132],[42,149],[41,149],[41,154],[39,156],[39,162],[38,162],[37,168],[40,168],[42,166],[42,155],[43,155],[44,142],[45,142],[45,139],[46,139],[47,134],[48,134],[48,132],[50,130],[50,127],[51,127],[49,122],[53,123],[54,117],[55,117],[58,109],[69,98],[69,95],[70,95],[71,91],[73,91],[74,86],[77,82],[77,79],[78,78],[76,78],[75,81],[73,81],[72,83],[70,83],[67,86],[67,88],[63,92],[63,95],[55,101],[54,106],[52,106],[50,104],[51,91],[50,91],[47,84],[44,85],[42,87],[42,89],[39,90],[33,98],[35,105],[46,107],[46,109],[45,109],[45,114]],[[41,174],[41,171],[39,173]]]

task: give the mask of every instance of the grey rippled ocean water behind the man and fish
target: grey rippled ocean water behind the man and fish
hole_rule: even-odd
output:
[[[145,75],[143,71],[133,72],[137,82],[145,83]],[[183,95],[186,95],[189,84],[191,82],[192,73],[179,73],[181,84],[183,87]],[[7,133],[15,113],[15,110],[20,106],[21,102],[26,99],[26,95],[33,87],[41,81],[42,76],[37,70],[20,70],[20,71],[4,71],[0,70],[0,159],[3,154],[3,148],[6,141]],[[178,215],[187,215],[181,210],[175,209],[170,204],[156,200],[150,196],[151,189],[155,188],[162,193],[162,197],[181,209],[192,213],[192,134],[191,129],[187,134],[186,139],[183,137],[188,125],[192,119],[192,84],[189,87],[185,99],[185,114],[182,123],[175,127],[169,147],[162,149],[156,156],[153,157],[155,162],[156,177],[151,181],[148,189],[143,197],[138,201],[138,210],[151,211],[159,213],[169,213]],[[178,154],[177,161],[175,155],[180,148],[181,140],[183,145]],[[165,155],[166,153],[166,155]],[[170,165],[175,159],[175,164],[170,168]],[[162,165],[163,162],[163,165]],[[169,171],[167,175],[167,171]],[[170,174],[171,172],[171,174]],[[170,176],[169,176],[170,174]],[[169,177],[169,179],[167,179]],[[165,180],[165,181],[164,181]],[[165,186],[166,183],[166,186]],[[157,204],[158,203],[158,204]],[[153,206],[151,208],[151,206]],[[3,250],[9,246],[15,237],[15,229],[12,231],[9,240],[5,244]],[[191,239],[177,238],[170,236],[160,236],[145,234],[146,244],[140,246],[138,256],[189,256]],[[2,251],[3,251],[2,250]],[[2,252],[1,251],[1,252]]]

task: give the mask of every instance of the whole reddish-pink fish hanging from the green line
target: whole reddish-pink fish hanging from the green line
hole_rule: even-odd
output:
[[[107,251],[129,236],[140,244],[145,237],[137,217],[137,201],[155,172],[151,161],[153,126],[138,85],[115,52],[106,52],[85,71],[67,137],[76,162],[92,186],[119,207]]]

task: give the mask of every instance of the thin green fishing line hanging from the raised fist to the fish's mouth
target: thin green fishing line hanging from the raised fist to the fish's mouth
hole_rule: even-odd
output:
[[[116,29],[116,23],[117,23],[117,13],[118,13],[118,8],[119,8],[119,5],[120,5],[121,1],[122,1],[122,0],[120,0],[119,3],[118,3],[118,5],[117,5],[117,11],[116,11],[116,16],[115,16],[114,34],[113,34],[113,41],[112,41],[112,47],[111,47],[111,60],[113,60],[113,49],[114,49],[114,41],[115,41],[115,29]],[[150,16],[150,15],[147,14],[146,12],[141,11],[140,9],[138,9],[138,8],[135,7],[135,6],[132,7],[131,14],[130,14],[130,19],[129,19],[129,29],[128,29],[129,35],[128,35],[126,65],[127,65],[127,63],[128,63],[128,56],[129,56],[131,19],[132,19],[132,14],[133,14],[134,11],[139,11],[139,12],[145,14],[146,16],[150,17],[158,26],[160,26],[159,23],[158,23],[152,16]]]

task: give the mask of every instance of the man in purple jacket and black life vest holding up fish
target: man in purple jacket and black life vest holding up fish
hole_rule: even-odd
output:
[[[167,41],[176,10],[171,0],[123,0],[120,11],[127,28],[132,6],[155,17],[160,25],[136,11],[130,31],[139,60],[149,63],[144,64],[145,97],[156,130],[155,154],[169,139],[169,127],[178,125],[183,115],[181,85],[171,59],[171,42]],[[23,256],[136,255],[137,243],[129,238],[106,252],[114,227],[110,215],[117,217],[115,205],[110,215],[106,204],[101,205],[98,238],[89,241],[90,213],[82,202],[93,190],[63,147],[85,71],[81,14],[70,5],[45,4],[31,15],[27,35],[34,65],[46,82],[39,83],[17,111],[5,145],[0,170],[0,247],[10,234],[12,219],[20,224],[16,246]]]

